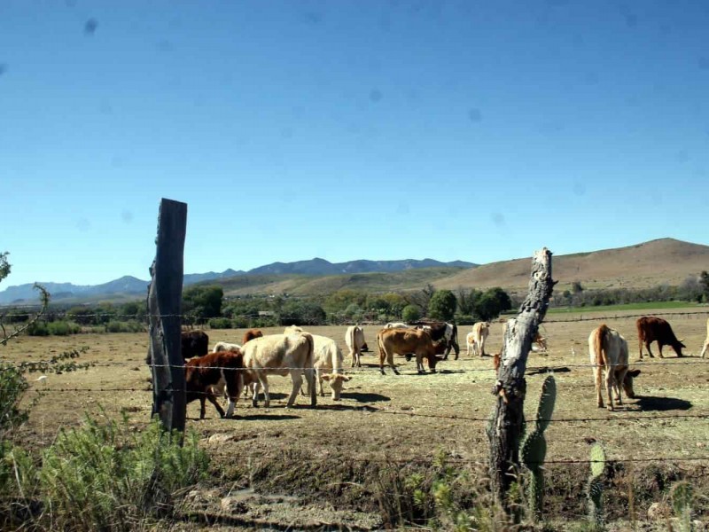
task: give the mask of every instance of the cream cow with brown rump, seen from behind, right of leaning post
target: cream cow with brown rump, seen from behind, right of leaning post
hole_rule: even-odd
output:
[[[594,364],[598,408],[604,407],[602,379],[608,394],[608,410],[613,410],[612,390],[615,390],[618,404],[623,403],[620,398],[620,386],[629,398],[635,397],[633,378],[640,374],[640,370],[628,371],[627,341],[618,331],[605,324],[596,327],[588,336],[588,354],[591,364]]]

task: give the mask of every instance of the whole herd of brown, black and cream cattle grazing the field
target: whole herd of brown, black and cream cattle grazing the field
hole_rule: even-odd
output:
[[[466,335],[468,355],[485,356],[485,340],[490,331],[489,322],[479,322]],[[505,324],[506,326],[506,324]],[[649,356],[653,357],[650,345],[658,343],[659,356],[662,358],[663,346],[670,346],[677,356],[682,356],[686,346],[677,340],[672,327],[659,317],[641,317],[636,321],[639,359],[643,359],[643,345]],[[706,340],[701,357],[709,349],[709,320],[706,323]],[[342,352],[337,342],[331,338],[305,332],[297,326],[287,327],[282,334],[264,336],[257,329],[245,332],[241,345],[217,342],[213,351],[208,352],[209,338],[206,332],[190,331],[182,333],[182,353],[185,363],[187,402],[200,402],[199,418],[205,417],[205,402],[214,404],[220,416],[230,418],[238,396],[244,390],[252,395],[253,406],[258,405],[258,397],[263,388],[264,405],[269,407],[269,375],[291,375],[292,390],[286,403],[292,406],[297,395],[302,393],[303,376],[307,382],[308,395],[312,406],[316,406],[316,394],[324,395],[323,381],[331,387],[331,397],[339,401],[343,383],[350,377],[345,375]],[[347,328],[345,343],[352,359],[352,367],[361,367],[362,351],[367,351],[362,327],[352,325]],[[446,360],[451,349],[457,360],[460,347],[457,340],[457,327],[453,324],[421,321],[414,324],[390,323],[377,333],[379,351],[379,371],[384,375],[384,363],[389,364],[395,374],[399,374],[393,363],[395,354],[406,356],[410,360],[416,357],[417,372],[425,372],[424,359],[431,372],[436,364]],[[546,350],[546,339],[539,334],[534,338],[534,350]],[[634,397],[633,378],[640,370],[630,371],[627,340],[618,331],[607,325],[600,325],[588,337],[590,362],[594,366],[596,381],[596,400],[603,408],[603,388],[607,393],[607,407],[613,410],[612,394],[618,404],[622,403],[620,387],[630,398]],[[190,359],[190,360],[187,360]],[[150,362],[150,361],[148,361]],[[494,357],[495,370],[501,363],[500,354]],[[218,396],[225,395],[229,400],[228,409],[223,411]]]

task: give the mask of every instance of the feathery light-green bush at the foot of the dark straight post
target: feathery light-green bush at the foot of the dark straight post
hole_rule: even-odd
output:
[[[175,495],[204,478],[209,458],[198,436],[167,434],[158,420],[136,434],[127,419],[62,432],[39,474],[44,512],[59,530],[133,530],[169,512]]]

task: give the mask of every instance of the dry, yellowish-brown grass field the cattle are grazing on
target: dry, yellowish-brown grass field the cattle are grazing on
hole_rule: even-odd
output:
[[[547,505],[552,515],[571,519],[584,514],[588,464],[557,462],[588,460],[591,440],[601,442],[609,460],[616,461],[607,480],[609,493],[614,494],[608,509],[616,519],[628,517],[630,491],[639,518],[644,518],[651,502],[666,501],[676,479],[690,477],[709,492],[709,359],[697,357],[706,316],[663,316],[684,339],[687,356],[677,358],[666,348],[665,359],[635,362],[634,367],[642,370],[635,380],[638,396],[624,400],[614,412],[596,407],[588,367],[588,333],[601,320],[585,314],[589,321],[543,325],[549,352],[530,353],[526,412],[527,419],[534,418],[541,382],[546,370],[553,370],[558,390],[555,421],[546,432]],[[562,318],[549,316],[554,319]],[[635,318],[605,321],[627,338],[635,361]],[[493,325],[488,353],[501,347],[502,327]],[[305,397],[299,397],[295,408],[285,409],[291,386],[285,377],[270,379],[268,410],[253,409],[242,399],[234,419],[219,419],[207,403],[207,418],[200,421],[199,403],[191,403],[188,426],[203,438],[214,467],[214,482],[191,494],[191,505],[200,512],[231,516],[233,520],[224,522],[232,525],[243,520],[279,529],[315,528],[318,523],[370,529],[385,524],[379,502],[380,480],[387,468],[406,475],[430,467],[434,456],[444,453],[461,467],[480,471],[487,459],[485,429],[494,402],[490,389],[495,372],[490,356],[466,356],[464,337],[470,326],[459,332],[459,360],[451,356],[439,364],[439,372],[417,375],[415,362],[399,357],[401,376],[389,369],[386,376],[379,374],[377,329],[365,327],[370,352],[358,371],[348,368],[345,326],[309,330],[337,340],[346,356],[347,373],[353,379],[339,403],[330,395],[318,397],[313,410],[305,406]],[[210,346],[219,340],[239,342],[243,332],[208,331]],[[264,330],[273,332],[281,328]],[[4,359],[19,362],[88,346],[81,360],[95,364],[85,372],[33,381],[33,389],[45,388],[47,393],[32,411],[27,441],[45,446],[61,427],[76,426],[86,412],[100,414],[101,409],[109,416],[124,412],[130,423],[143,426],[152,402],[150,373],[144,364],[147,340],[146,333],[21,337],[0,348]]]

